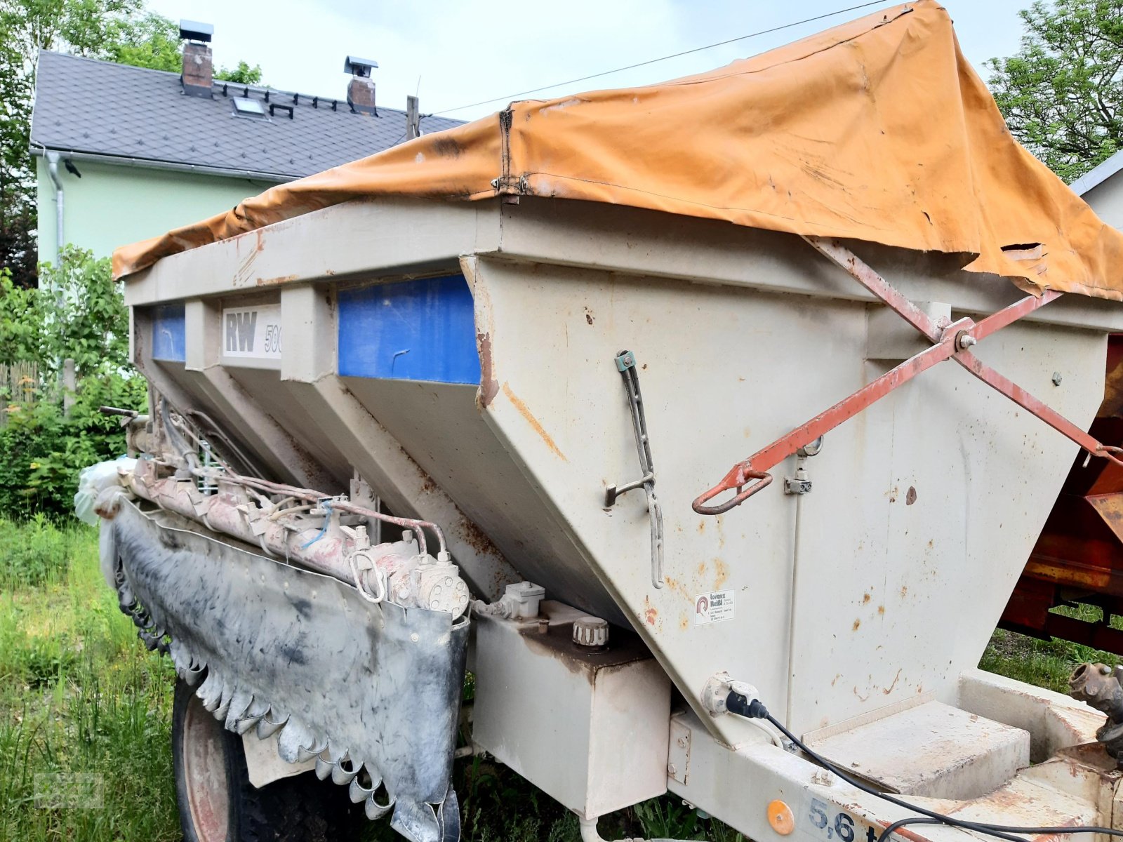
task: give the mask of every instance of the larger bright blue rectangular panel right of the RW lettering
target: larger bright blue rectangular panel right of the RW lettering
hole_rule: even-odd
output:
[[[476,323],[464,275],[340,292],[339,374],[478,384]]]

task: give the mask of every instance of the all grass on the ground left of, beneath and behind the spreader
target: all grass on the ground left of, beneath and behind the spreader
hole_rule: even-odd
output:
[[[1095,608],[1061,610],[1096,620]],[[1120,621],[1116,621],[1120,622]],[[1065,692],[1085,660],[1116,656],[996,631],[984,669]],[[145,650],[101,578],[97,532],[0,520],[0,840],[180,840],[171,760],[174,670]],[[457,762],[464,839],[576,842],[576,817],[505,767]],[[622,836],[743,842],[665,796],[605,816]],[[369,840],[398,840],[385,822]]]

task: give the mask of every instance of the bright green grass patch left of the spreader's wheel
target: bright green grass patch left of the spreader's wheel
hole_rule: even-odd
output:
[[[0,839],[177,840],[173,676],[92,529],[0,521]]]

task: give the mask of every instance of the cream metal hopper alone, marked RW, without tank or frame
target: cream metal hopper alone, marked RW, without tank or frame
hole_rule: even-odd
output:
[[[955,318],[1020,298],[946,256],[855,250]],[[693,705],[725,670],[797,732],[953,702],[1075,454],[942,366],[829,433],[810,494],[695,514],[734,460],[924,347],[800,238],[718,222],[356,202],[166,258],[126,295],[146,376],[274,476],[345,489],[354,466],[393,512],[446,525],[481,595],[538,583],[638,631]],[[1119,308],[1066,296],[977,355],[1083,425],[1120,329]],[[621,348],[657,466],[661,589],[643,495],[605,506],[639,476]],[[700,614],[714,593],[728,607]],[[732,743],[748,727],[711,726]]]

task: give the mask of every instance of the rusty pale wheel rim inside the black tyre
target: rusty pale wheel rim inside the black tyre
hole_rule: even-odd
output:
[[[230,825],[230,793],[226,780],[222,725],[194,695],[183,717],[183,781],[191,825],[199,842],[226,842]]]

